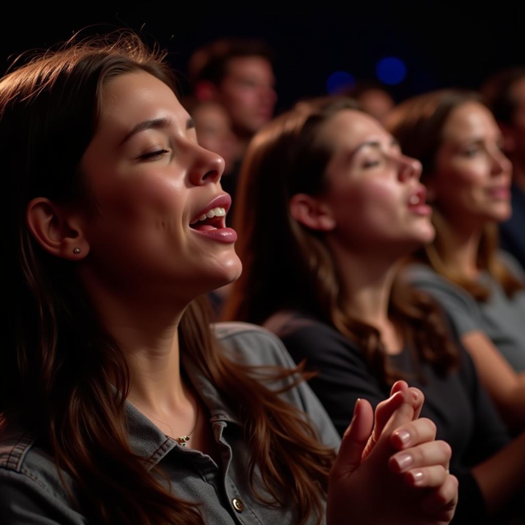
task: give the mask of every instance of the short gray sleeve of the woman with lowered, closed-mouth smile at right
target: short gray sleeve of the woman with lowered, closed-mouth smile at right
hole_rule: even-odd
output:
[[[484,330],[481,312],[476,300],[459,286],[445,280],[431,268],[408,268],[404,277],[415,288],[427,292],[443,308],[459,337]]]

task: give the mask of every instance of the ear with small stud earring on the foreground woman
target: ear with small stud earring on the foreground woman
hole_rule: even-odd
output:
[[[51,255],[80,260],[89,253],[78,211],[37,197],[27,205],[26,224],[37,243]]]

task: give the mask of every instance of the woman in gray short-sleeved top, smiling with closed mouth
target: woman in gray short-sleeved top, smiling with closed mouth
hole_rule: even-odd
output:
[[[511,164],[476,93],[444,90],[400,104],[388,128],[423,164],[436,236],[407,271],[442,304],[502,417],[525,428],[525,274],[498,250],[511,214]]]

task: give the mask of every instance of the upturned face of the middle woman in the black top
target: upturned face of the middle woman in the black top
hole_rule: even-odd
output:
[[[328,189],[320,197],[332,238],[357,253],[396,255],[433,239],[421,164],[404,156],[379,122],[344,110],[320,134],[333,152],[325,170]]]

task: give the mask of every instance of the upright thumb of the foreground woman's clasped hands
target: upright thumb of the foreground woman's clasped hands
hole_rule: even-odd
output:
[[[364,399],[358,399],[355,402],[354,416],[343,434],[339,453],[333,464],[335,476],[352,474],[361,465],[361,457],[372,433],[373,422],[372,405]]]

